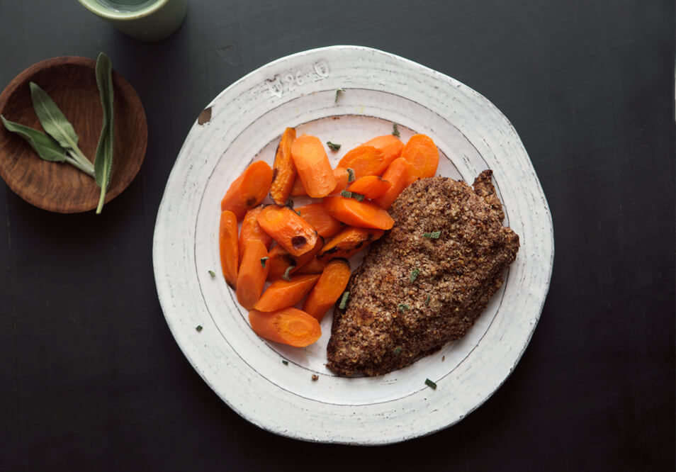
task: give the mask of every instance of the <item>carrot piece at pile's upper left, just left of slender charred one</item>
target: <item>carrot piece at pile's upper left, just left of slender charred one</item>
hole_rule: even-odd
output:
[[[267,162],[252,163],[227,189],[220,201],[220,209],[232,211],[237,220],[241,220],[249,208],[263,201],[270,190],[271,181],[272,169]]]

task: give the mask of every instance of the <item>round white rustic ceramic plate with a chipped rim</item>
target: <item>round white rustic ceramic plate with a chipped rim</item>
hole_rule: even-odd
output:
[[[336,99],[337,89],[344,92]],[[208,108],[210,120],[193,125],[171,171],[153,243],[164,315],[204,381],[255,425],[316,442],[400,442],[453,425],[481,405],[526,349],[553,259],[546,198],[507,118],[451,77],[354,46],[271,62],[222,91]],[[413,133],[434,139],[441,175],[472,182],[493,169],[505,224],[521,238],[521,249],[506,283],[461,341],[384,376],[340,378],[325,367],[330,315],[320,341],[305,349],[252,332],[220,272],[220,199],[253,159],[272,162],[287,126],[341,143],[339,152],[329,152],[335,164],[351,147],[390,133],[392,123],[404,141]],[[319,379],[312,381],[312,374]]]

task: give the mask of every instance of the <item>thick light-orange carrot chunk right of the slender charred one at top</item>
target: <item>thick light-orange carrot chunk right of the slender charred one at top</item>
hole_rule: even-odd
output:
[[[291,157],[308,195],[322,198],[336,188],[336,178],[324,145],[316,136],[300,135],[291,145]]]

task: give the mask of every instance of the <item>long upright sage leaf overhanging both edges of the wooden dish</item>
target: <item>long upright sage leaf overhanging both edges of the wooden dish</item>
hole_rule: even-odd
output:
[[[101,96],[103,107],[103,123],[101,124],[101,136],[96,146],[94,158],[94,176],[96,184],[101,187],[101,196],[98,198],[96,213],[101,213],[103,201],[106,199],[106,190],[111,181],[113,169],[113,71],[111,60],[108,56],[99,53],[96,59],[96,85],[98,94]]]

